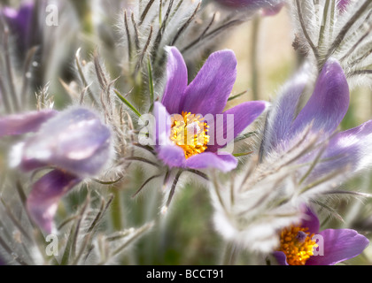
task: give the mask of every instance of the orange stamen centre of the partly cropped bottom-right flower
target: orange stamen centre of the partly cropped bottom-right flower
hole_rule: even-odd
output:
[[[291,226],[283,229],[280,234],[280,248],[287,256],[290,265],[305,265],[310,256],[314,256],[313,250],[318,245],[312,240],[314,233],[306,232],[308,228]]]

